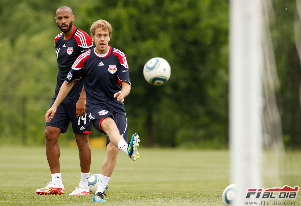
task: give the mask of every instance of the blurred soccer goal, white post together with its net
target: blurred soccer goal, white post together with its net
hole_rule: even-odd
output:
[[[301,0],[229,5],[230,180],[241,205],[249,187],[301,182]]]

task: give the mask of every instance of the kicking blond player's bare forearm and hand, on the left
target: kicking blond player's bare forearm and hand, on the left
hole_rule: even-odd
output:
[[[59,104],[61,104],[61,102],[65,99],[65,97],[67,96],[67,94],[70,92],[72,86],[73,86],[73,82],[71,82],[70,84],[67,82],[64,82],[60,88],[60,92],[58,93],[56,100],[54,101],[53,105],[51,106],[50,109],[48,109],[48,111],[45,114],[45,120],[46,122],[50,122],[51,119],[53,118],[53,115],[56,113],[56,108]]]

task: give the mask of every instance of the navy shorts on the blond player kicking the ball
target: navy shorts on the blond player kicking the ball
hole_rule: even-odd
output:
[[[89,118],[92,121],[92,124],[94,128],[106,135],[104,131],[102,131],[101,128],[101,122],[104,118],[111,117],[119,129],[120,135],[123,137],[123,139],[127,142],[128,141],[128,119],[127,116],[115,111],[108,111],[107,109],[103,108],[102,106],[94,106],[90,110]],[[110,139],[107,136],[107,145],[110,142]]]

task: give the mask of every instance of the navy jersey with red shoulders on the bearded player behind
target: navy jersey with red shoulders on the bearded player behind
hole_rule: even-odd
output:
[[[63,33],[60,33],[56,35],[54,40],[58,64],[54,98],[57,97],[64,79],[66,78],[68,72],[71,70],[71,66],[73,65],[76,58],[85,51],[93,48],[93,43],[90,36],[86,32],[76,27],[74,27],[73,33],[71,34],[69,39],[64,39],[63,37]],[[65,99],[77,99],[82,92],[82,86],[83,83],[81,80],[74,84]]]

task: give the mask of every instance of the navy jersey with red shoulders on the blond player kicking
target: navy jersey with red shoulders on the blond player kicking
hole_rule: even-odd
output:
[[[81,54],[65,81],[71,83],[83,79],[88,114],[93,105],[99,105],[125,115],[123,102],[113,96],[121,90],[121,82],[131,84],[128,62],[120,50],[108,46],[109,51],[105,55],[96,54],[95,49]]]

